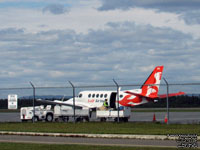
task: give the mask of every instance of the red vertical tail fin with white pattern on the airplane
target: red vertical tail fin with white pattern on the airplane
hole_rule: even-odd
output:
[[[164,66],[157,66],[142,85],[142,95],[150,98],[158,97],[159,84]]]

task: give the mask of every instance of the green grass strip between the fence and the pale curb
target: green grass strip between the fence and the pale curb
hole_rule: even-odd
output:
[[[89,134],[197,134],[198,124],[160,124],[160,123],[0,123],[0,131],[49,132],[49,133],[89,133]]]

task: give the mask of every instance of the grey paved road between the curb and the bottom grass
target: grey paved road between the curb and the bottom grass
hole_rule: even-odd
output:
[[[47,136],[17,136],[0,135],[0,142],[41,143],[41,144],[79,144],[99,146],[148,146],[148,147],[177,147],[172,140],[136,140],[136,139],[107,139],[107,138],[73,138]]]

